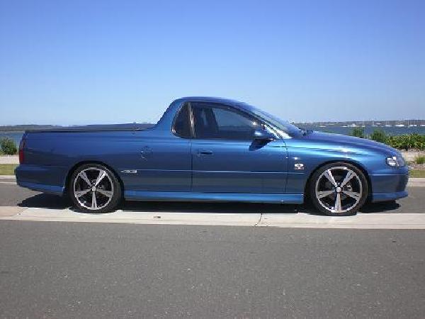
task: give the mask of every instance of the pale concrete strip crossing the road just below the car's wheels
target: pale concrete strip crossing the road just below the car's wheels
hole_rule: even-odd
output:
[[[358,213],[356,216],[330,217],[309,213],[176,213],[119,210],[114,213],[88,214],[77,213],[68,208],[1,206],[0,220],[277,228],[425,229],[425,213]]]

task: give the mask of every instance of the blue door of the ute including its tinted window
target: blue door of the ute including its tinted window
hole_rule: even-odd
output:
[[[287,177],[283,140],[254,140],[263,123],[231,106],[192,102],[192,191],[282,194]]]

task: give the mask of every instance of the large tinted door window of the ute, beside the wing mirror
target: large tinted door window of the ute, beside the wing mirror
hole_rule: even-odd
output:
[[[196,138],[252,140],[258,121],[226,106],[192,103]]]

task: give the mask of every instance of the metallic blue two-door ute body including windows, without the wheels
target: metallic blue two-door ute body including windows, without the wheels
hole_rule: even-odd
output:
[[[18,185],[57,195],[69,192],[78,167],[93,163],[108,169],[126,200],[300,204],[314,172],[346,163],[364,175],[370,201],[407,196],[408,169],[392,147],[300,130],[229,99],[177,99],[144,129],[130,124],[27,131],[20,155]],[[392,158],[394,166],[388,164]]]

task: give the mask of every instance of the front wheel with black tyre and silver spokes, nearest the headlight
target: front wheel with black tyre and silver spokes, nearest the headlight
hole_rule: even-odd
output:
[[[341,184],[344,185],[341,187]],[[321,213],[328,216],[351,216],[357,213],[368,198],[368,181],[365,174],[353,164],[335,162],[319,167],[314,172],[309,192],[310,200]]]

